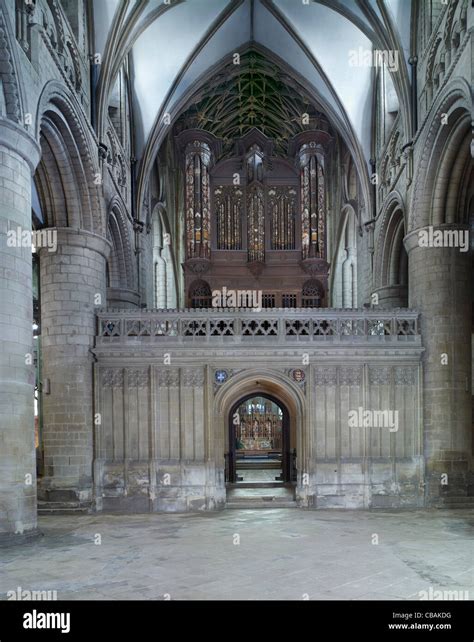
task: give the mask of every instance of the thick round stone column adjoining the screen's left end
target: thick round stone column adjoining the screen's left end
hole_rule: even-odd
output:
[[[58,507],[92,499],[93,355],[97,308],[105,306],[110,244],[84,230],[55,229],[40,251],[44,472],[38,493]]]

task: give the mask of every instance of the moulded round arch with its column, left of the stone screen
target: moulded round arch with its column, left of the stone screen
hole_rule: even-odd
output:
[[[42,374],[48,393],[43,395],[44,476],[38,497],[67,497],[77,506],[89,505],[94,426],[90,347],[97,307],[107,301],[106,265],[111,241],[119,242],[118,228],[113,226],[109,241],[96,140],[76,97],[57,81],[48,82],[38,100],[36,135],[42,152],[35,175],[38,201],[44,227],[52,228],[55,239],[55,251],[39,249]],[[115,267],[114,278],[123,276],[124,264],[118,261]],[[73,428],[66,414],[58,422],[68,398],[81,399]],[[79,464],[64,463],[63,452],[72,445]]]

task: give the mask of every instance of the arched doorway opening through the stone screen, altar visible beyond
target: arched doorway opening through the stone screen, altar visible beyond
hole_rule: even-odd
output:
[[[231,484],[285,484],[293,481],[290,416],[268,393],[247,394],[229,413],[226,481]]]

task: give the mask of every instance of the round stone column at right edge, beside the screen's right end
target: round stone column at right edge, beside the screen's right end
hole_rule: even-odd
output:
[[[454,231],[450,225],[434,227]],[[460,228],[458,228],[460,229]],[[408,234],[409,306],[421,313],[426,499],[465,495],[472,458],[471,257],[458,247],[420,247]],[[444,476],[446,475],[446,477]]]

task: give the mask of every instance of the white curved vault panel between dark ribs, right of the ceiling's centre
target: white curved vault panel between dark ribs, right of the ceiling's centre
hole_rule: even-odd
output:
[[[350,56],[353,51],[371,51],[372,43],[354,24],[326,6],[293,0],[275,0],[275,5],[321,65],[369,158],[372,68],[352,66]]]

